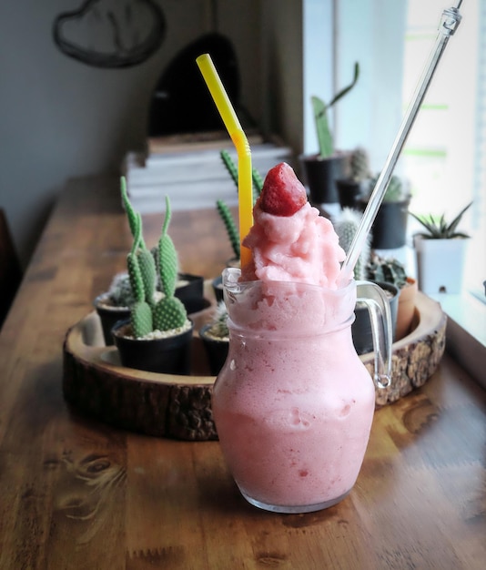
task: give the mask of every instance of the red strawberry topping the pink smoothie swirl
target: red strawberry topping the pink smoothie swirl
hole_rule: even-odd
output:
[[[258,198],[257,206],[260,209],[274,216],[289,217],[306,202],[306,188],[286,162],[280,162],[268,170]]]

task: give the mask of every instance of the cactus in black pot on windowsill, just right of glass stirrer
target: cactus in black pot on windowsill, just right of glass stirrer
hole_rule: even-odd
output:
[[[378,175],[370,181],[370,192],[359,198],[359,209],[366,208],[377,180]],[[399,176],[392,175],[371,228],[372,249],[397,249],[405,245],[409,206],[410,192],[407,185]]]

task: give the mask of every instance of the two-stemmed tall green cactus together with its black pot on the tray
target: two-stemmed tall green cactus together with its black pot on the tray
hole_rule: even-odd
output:
[[[123,190],[122,190],[123,191]],[[127,271],[135,302],[128,321],[113,329],[116,347],[124,366],[147,372],[190,373],[193,323],[175,296],[177,252],[167,233],[170,202],[158,240],[158,262],[142,238],[142,219],[125,197],[128,222],[134,236],[127,255]],[[160,291],[157,295],[157,277]]]

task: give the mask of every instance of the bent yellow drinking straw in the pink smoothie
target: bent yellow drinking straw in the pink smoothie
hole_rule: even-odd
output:
[[[209,54],[203,54],[196,59],[197,66],[208,86],[209,93],[218,107],[219,115],[223,119],[228,135],[231,137],[238,153],[238,216],[241,267],[251,260],[251,252],[241,245],[241,241],[248,234],[253,224],[253,191],[251,181],[251,151],[248,138],[239,124],[235,109],[229,101],[228,94],[221,83],[218,71]]]

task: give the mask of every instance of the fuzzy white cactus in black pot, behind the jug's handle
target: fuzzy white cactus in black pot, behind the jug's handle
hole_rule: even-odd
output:
[[[361,214],[359,211],[345,208],[339,215],[339,219],[334,221],[334,229],[339,237],[339,245],[348,252],[352,240],[359,228]],[[365,243],[359,254],[359,260],[354,268],[354,279],[368,279],[368,265],[370,263],[371,249],[370,239]],[[390,300],[391,322],[393,327],[393,335],[395,335],[397,327],[397,311],[399,300],[399,288],[386,281],[375,280],[377,285],[387,293]],[[356,319],[351,325],[351,334],[353,343],[358,354],[365,354],[373,350],[373,337],[371,333],[370,313],[367,306],[358,301],[355,308]]]

